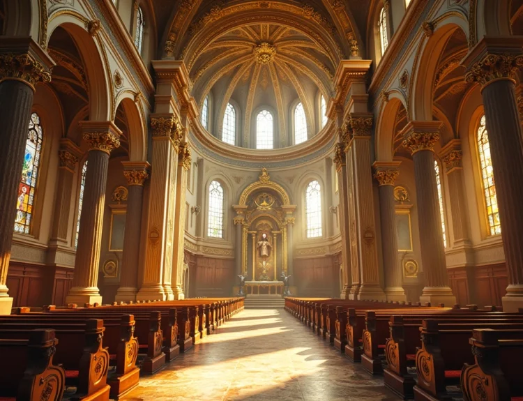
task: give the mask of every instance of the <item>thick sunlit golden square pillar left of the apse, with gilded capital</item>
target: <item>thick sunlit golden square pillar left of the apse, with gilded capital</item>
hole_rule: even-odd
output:
[[[182,130],[174,114],[153,114],[153,156],[146,259],[137,301],[172,301],[171,272],[176,213],[176,170]]]

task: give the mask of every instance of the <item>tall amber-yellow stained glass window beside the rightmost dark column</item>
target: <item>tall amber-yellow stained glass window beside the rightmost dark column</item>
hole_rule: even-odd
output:
[[[487,126],[485,125],[485,116],[481,117],[478,128],[478,153],[490,235],[501,234],[496,184],[494,183],[494,171],[492,170],[492,158],[490,158],[490,144]]]

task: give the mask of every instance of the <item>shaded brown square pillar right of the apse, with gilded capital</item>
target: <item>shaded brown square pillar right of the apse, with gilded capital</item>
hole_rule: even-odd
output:
[[[372,116],[367,113],[351,113],[349,121],[351,141],[347,151],[351,153],[354,177],[354,205],[356,206],[356,241],[360,286],[357,299],[384,299],[385,293],[379,283],[379,264],[374,222],[374,200],[370,138]]]

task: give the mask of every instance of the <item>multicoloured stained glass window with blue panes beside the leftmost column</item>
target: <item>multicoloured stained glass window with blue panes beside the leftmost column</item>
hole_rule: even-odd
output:
[[[25,144],[24,164],[22,165],[22,180],[18,186],[16,202],[15,232],[30,234],[33,217],[33,202],[40,167],[42,152],[43,129],[40,126],[38,114],[31,114],[29,130]]]

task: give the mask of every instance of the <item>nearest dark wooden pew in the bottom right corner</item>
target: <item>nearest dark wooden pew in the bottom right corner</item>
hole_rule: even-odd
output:
[[[523,331],[474,330],[472,354],[475,363],[464,365],[461,387],[468,401],[523,400]]]

